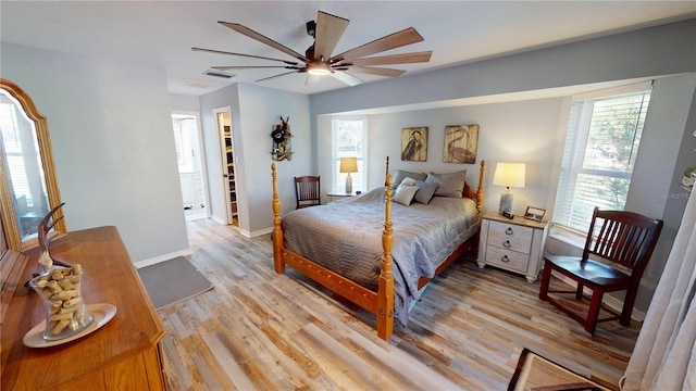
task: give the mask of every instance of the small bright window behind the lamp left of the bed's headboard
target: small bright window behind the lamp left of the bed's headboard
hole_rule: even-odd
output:
[[[352,188],[364,190],[366,187],[365,167],[368,165],[368,117],[334,116],[331,121],[332,129],[332,188],[346,187],[346,174],[339,173],[340,157],[358,157],[358,172],[350,174]]]

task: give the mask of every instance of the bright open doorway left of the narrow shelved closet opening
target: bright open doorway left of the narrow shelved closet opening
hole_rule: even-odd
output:
[[[208,218],[208,197],[203,150],[200,146],[198,113],[172,112],[172,127],[176,143],[182,198],[186,220]]]

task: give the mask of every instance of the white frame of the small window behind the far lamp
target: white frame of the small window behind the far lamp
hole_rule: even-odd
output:
[[[357,140],[356,148],[351,151],[340,151],[338,142],[338,126],[343,122],[362,122],[361,139]],[[346,174],[339,173],[340,157],[355,156],[358,159],[358,173],[352,177],[352,190],[364,191],[368,186],[368,116],[366,115],[332,115],[331,117],[331,146],[332,146],[332,189],[340,191],[346,188]]]

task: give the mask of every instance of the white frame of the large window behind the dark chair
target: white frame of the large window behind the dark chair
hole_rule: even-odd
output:
[[[644,101],[644,106],[641,111],[641,114],[638,115],[638,117],[643,118],[639,129],[639,133],[642,135],[643,125],[645,124],[645,113],[647,112],[647,106],[649,105],[650,90],[651,81],[646,81],[573,97],[571,115],[568,125],[568,135],[563,149],[563,159],[561,163],[559,184],[556,195],[556,205],[554,207],[552,220],[555,228],[575,232],[581,236],[587,235],[589,220],[592,218],[592,210],[585,211],[584,213],[575,212],[576,206],[582,206],[582,204],[575,205],[574,202],[574,195],[577,191],[576,181],[580,175],[625,179],[629,181],[630,188],[630,181],[633,176],[633,164],[635,164],[635,155],[637,154],[637,152],[633,155],[634,159],[633,162],[631,162],[629,171],[583,167],[585,161],[585,151],[589,137],[589,126],[593,117],[594,103],[596,101],[602,101],[607,99],[646,93],[647,100]],[[623,197],[627,197],[627,191],[625,194],[623,194]],[[597,199],[597,203],[599,203],[599,201],[600,198]],[[597,206],[602,209],[604,205],[597,204]],[[614,205],[616,209],[623,209],[623,206],[625,206],[625,203],[620,205],[620,207]],[[575,218],[573,218],[573,216],[575,216]]]

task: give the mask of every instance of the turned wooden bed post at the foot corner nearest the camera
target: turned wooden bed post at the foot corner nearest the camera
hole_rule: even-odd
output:
[[[382,270],[377,290],[377,336],[388,340],[394,330],[394,274],[391,274],[391,175],[387,156],[387,174],[384,179],[384,230],[382,231]]]

